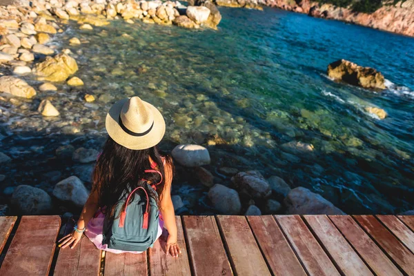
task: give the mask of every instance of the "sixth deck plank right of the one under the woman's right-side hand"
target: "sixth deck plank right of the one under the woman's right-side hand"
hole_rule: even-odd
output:
[[[341,231],[342,235],[357,250],[359,256],[377,275],[402,275],[382,250],[348,215],[331,215],[329,218]]]

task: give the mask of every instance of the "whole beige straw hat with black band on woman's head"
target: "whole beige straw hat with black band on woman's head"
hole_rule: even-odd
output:
[[[117,101],[106,115],[105,125],[108,135],[130,150],[151,148],[166,132],[161,113],[139,97]]]

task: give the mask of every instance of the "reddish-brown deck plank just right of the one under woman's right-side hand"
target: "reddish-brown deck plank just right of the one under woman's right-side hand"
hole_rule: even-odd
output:
[[[214,216],[185,216],[184,229],[195,275],[233,275]]]

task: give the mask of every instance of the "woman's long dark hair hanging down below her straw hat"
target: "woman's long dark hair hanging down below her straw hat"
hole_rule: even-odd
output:
[[[141,181],[146,179],[156,184],[160,180],[157,173],[144,172],[151,169],[148,157],[157,164],[157,170],[163,175],[156,193],[148,187],[146,181]],[[119,199],[138,186],[145,188],[148,195],[154,197],[159,204],[159,196],[162,195],[165,186],[165,168],[161,157],[163,156],[157,146],[145,150],[130,150],[108,137],[92,176],[92,192],[98,193],[98,207],[108,219],[114,218]],[[166,165],[173,168],[172,158],[164,158]]]

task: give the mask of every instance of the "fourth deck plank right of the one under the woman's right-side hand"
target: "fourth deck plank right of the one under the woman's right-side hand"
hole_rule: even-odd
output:
[[[309,275],[339,275],[338,270],[299,215],[277,215],[275,218]]]

